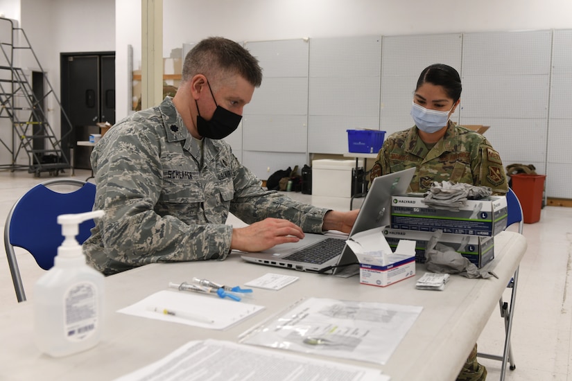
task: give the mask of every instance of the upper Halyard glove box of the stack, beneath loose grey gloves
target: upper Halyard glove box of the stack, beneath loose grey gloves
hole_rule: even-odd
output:
[[[440,229],[449,234],[492,237],[506,229],[507,217],[505,196],[467,200],[467,204],[459,211],[427,206],[424,197],[393,196],[390,227],[414,231]]]

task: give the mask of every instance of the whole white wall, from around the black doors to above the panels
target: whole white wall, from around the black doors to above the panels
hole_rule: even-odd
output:
[[[116,118],[128,114],[127,46],[141,61],[140,0],[0,0],[59,96],[60,53],[116,51]],[[7,12],[7,13],[8,13]],[[211,35],[236,41],[572,28],[569,0],[164,0],[164,57]],[[118,33],[116,33],[116,30]]]

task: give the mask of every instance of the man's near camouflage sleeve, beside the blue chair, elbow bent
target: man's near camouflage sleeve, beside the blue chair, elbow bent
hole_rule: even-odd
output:
[[[114,274],[148,263],[223,259],[230,249],[232,227],[186,224],[159,215],[154,206],[162,192],[160,139],[137,122],[115,126],[92,154],[96,163],[94,209],[103,209],[84,244],[90,265]]]

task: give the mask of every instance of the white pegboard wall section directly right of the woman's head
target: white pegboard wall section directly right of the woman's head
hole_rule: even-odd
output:
[[[462,52],[460,124],[489,125],[485,136],[503,164],[546,172],[552,35],[466,33]]]

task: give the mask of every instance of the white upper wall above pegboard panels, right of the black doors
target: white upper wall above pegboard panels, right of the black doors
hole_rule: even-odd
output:
[[[572,28],[569,0],[164,0],[164,57],[184,42]],[[141,1],[116,0],[117,118],[127,115],[127,44],[141,57]]]

